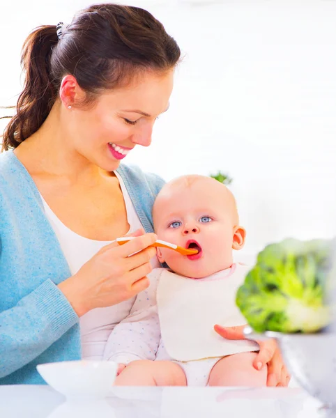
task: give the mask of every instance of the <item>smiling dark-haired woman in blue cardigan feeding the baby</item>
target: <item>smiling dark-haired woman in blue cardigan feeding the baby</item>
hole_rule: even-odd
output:
[[[40,363],[101,358],[148,286],[163,181],[119,164],[151,144],[179,59],[162,24],[135,7],[91,6],[27,38],[0,155],[0,384],[43,383]],[[137,238],[113,242],[128,233]],[[270,351],[281,370],[273,348],[260,358]]]

